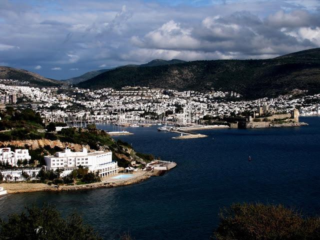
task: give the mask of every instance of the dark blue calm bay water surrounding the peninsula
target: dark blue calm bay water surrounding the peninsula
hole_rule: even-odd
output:
[[[156,127],[127,128],[135,134],[120,139],[178,166],[163,176],[118,188],[8,194],[0,198],[0,214],[46,201],[63,214],[83,214],[105,239],[129,230],[137,240],[208,239],[219,208],[232,202],[284,203],[317,214],[320,117],[301,120],[310,125],[206,130],[201,132],[209,137],[184,140],[171,139],[176,134],[156,132]]]

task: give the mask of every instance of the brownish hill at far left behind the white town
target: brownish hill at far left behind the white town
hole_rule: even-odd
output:
[[[59,86],[60,81],[45,78],[37,73],[8,66],[0,66],[0,79],[29,81],[34,86]]]

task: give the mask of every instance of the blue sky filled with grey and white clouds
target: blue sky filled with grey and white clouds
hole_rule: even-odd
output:
[[[0,65],[54,79],[320,47],[320,0],[0,0]]]

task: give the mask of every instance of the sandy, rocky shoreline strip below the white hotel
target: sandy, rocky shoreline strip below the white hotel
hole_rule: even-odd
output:
[[[131,175],[127,179],[114,179],[112,177],[121,175],[121,173],[112,175],[102,179],[100,182],[87,183],[81,185],[48,185],[45,183],[23,183],[23,182],[12,182],[12,183],[0,183],[7,193],[24,193],[24,192],[35,192],[35,191],[75,191],[75,190],[87,190],[96,189],[104,187],[117,187],[125,186],[130,184],[139,183],[144,181],[151,176],[159,176],[164,172],[174,168],[176,166],[175,162],[168,167],[167,170],[154,170],[154,171],[140,171],[136,173],[124,173],[125,175]],[[123,173],[122,173],[123,174]]]

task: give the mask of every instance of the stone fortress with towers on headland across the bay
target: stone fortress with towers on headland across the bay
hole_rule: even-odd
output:
[[[299,122],[299,110],[293,109],[290,113],[274,113],[269,111],[267,105],[258,107],[253,116],[224,117],[231,128],[264,128],[307,125]]]

